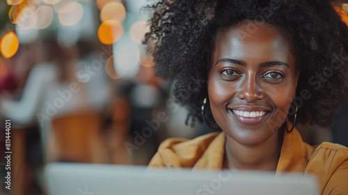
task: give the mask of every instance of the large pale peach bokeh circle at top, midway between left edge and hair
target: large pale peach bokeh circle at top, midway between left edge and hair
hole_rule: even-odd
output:
[[[72,9],[68,12],[58,13],[59,22],[63,26],[73,26],[84,16],[84,7],[80,3],[72,2],[69,6]]]

